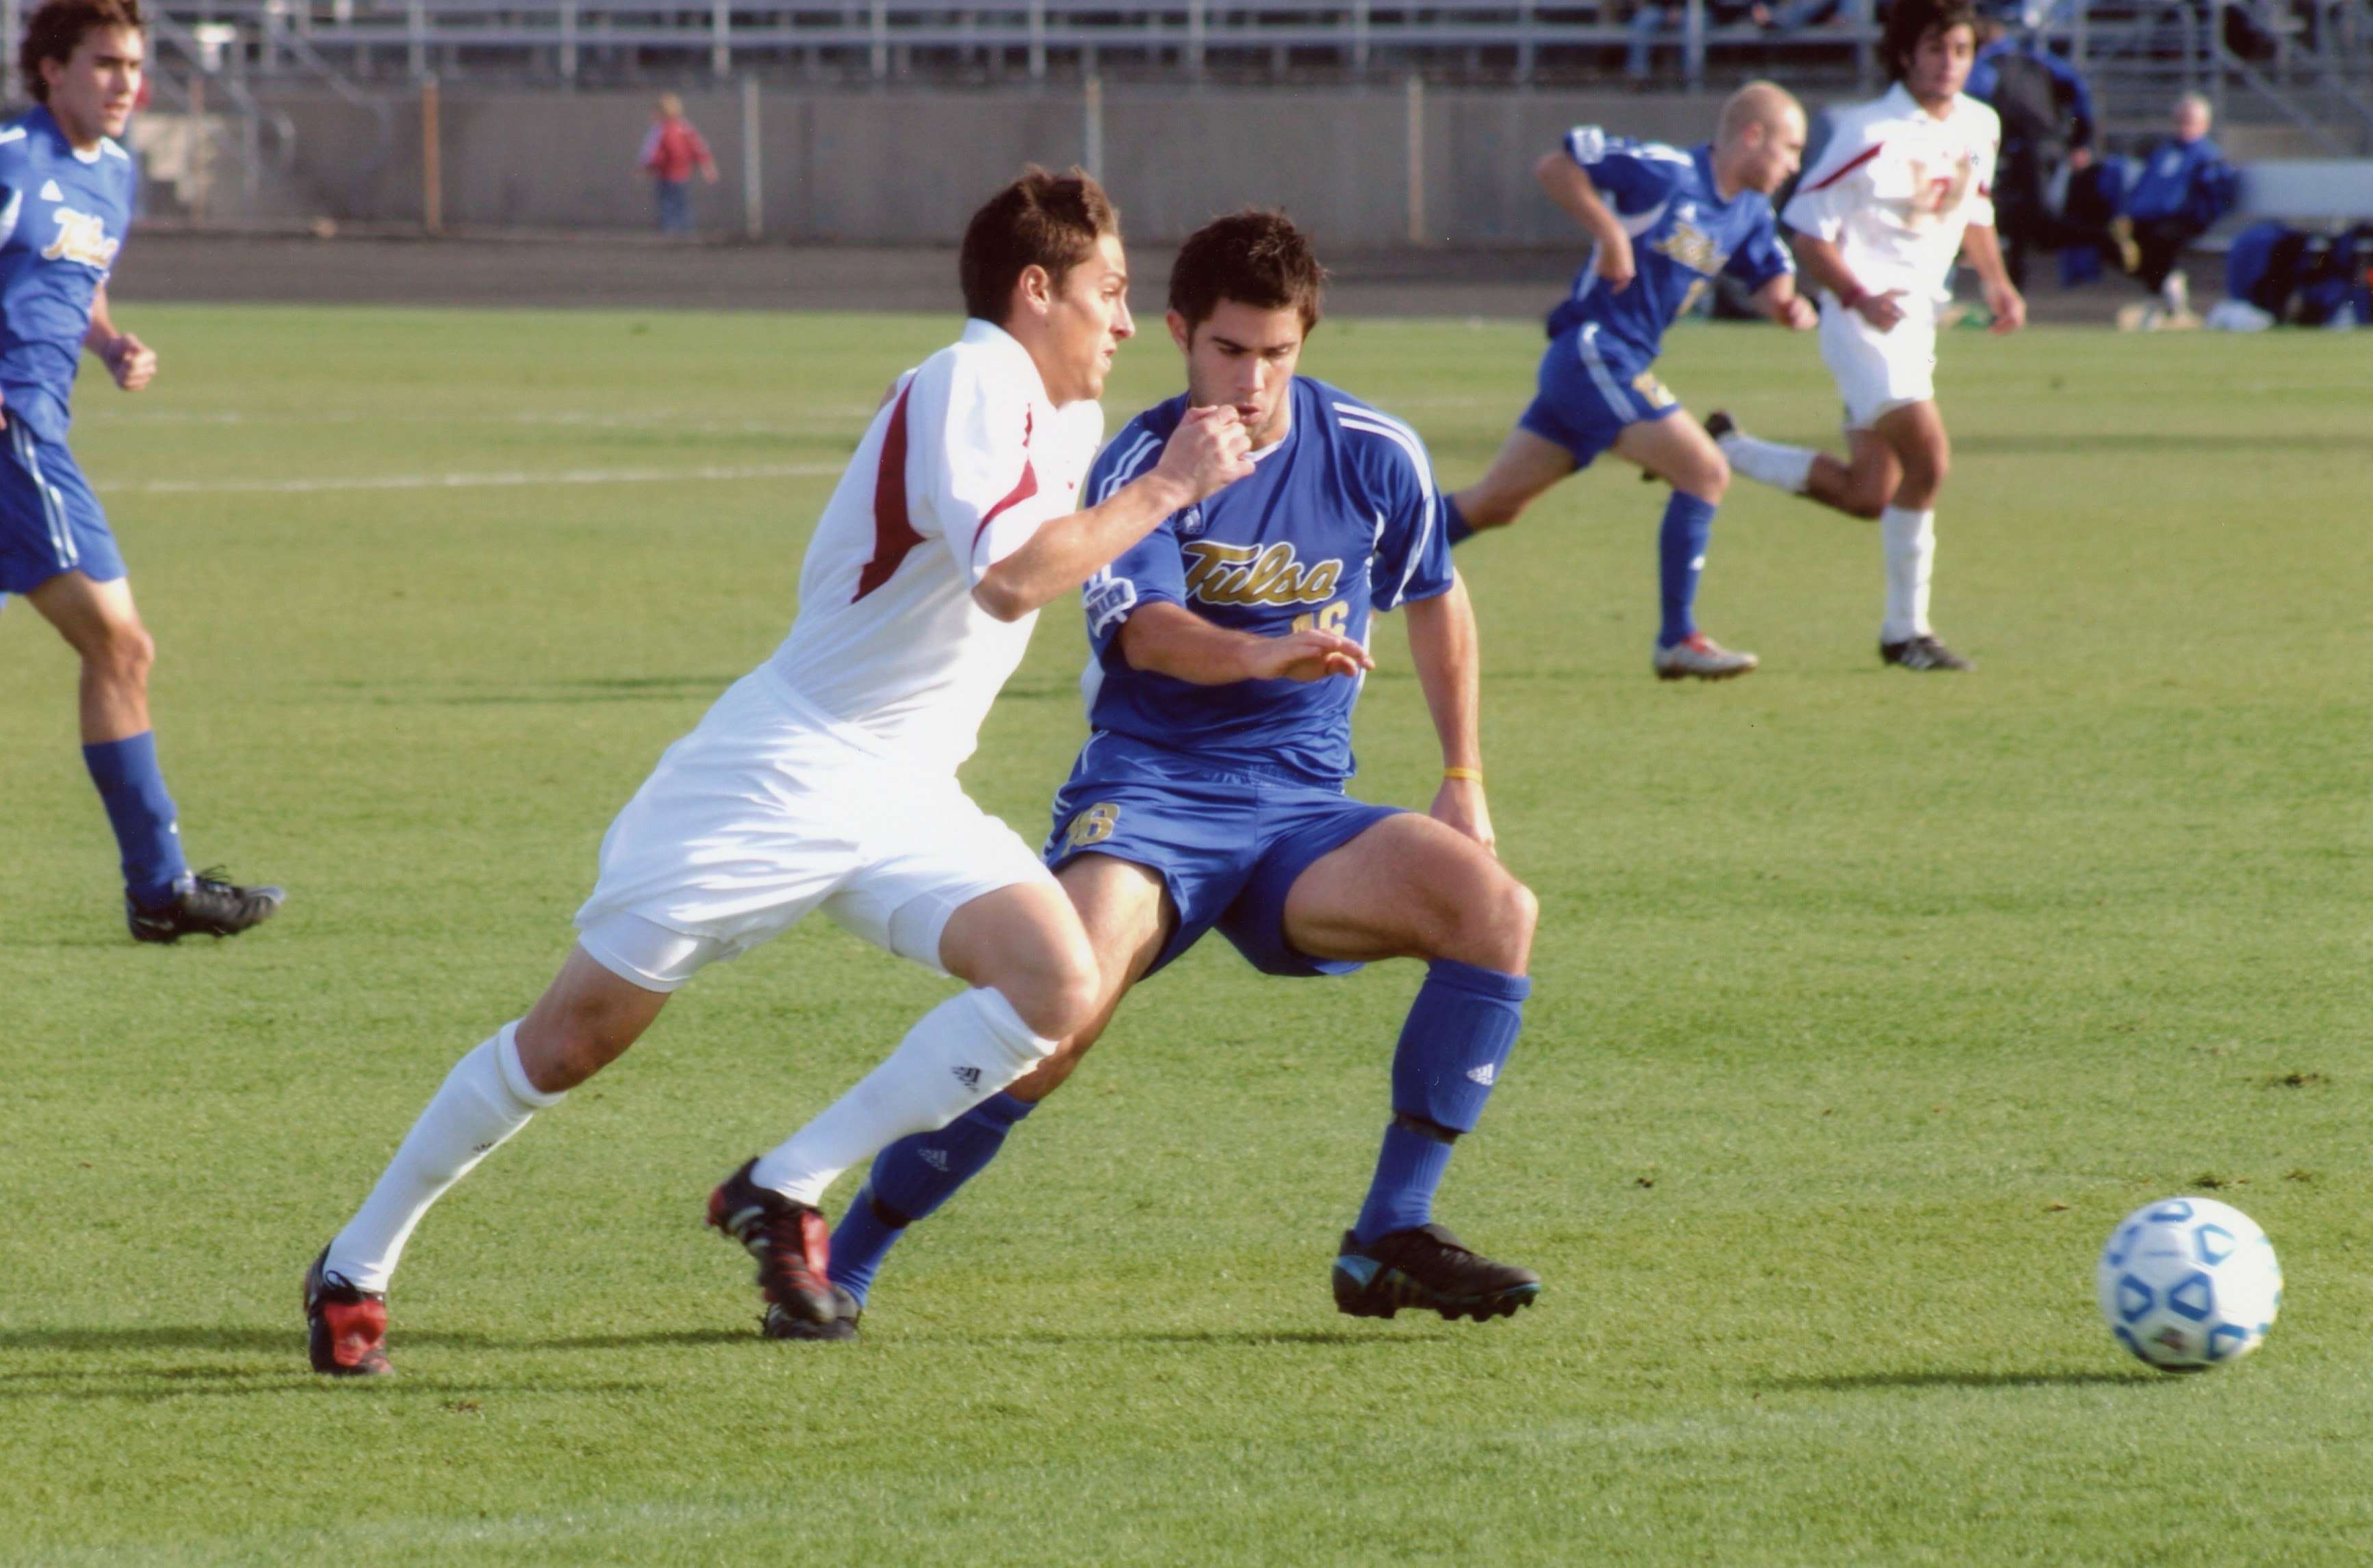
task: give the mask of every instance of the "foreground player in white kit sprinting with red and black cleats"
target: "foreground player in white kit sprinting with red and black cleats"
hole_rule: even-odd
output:
[[[695,970],[823,909],[971,989],[710,1198],[759,1260],[769,1338],[838,1338],[823,1188],[942,1127],[1089,1022],[1096,958],[1063,890],[956,783],[1037,610],[1251,470],[1232,408],[1082,510],[1096,396],[1132,337],[1111,204],[1032,168],[963,235],[963,339],[899,377],[816,524],[783,648],[672,745],[600,847],[577,949],[453,1067],[306,1274],[313,1369],[387,1366],[387,1281],[430,1205],[631,1046]]]

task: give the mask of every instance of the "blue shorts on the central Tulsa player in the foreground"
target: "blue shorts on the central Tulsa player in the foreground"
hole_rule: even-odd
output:
[[[1111,854],[1160,873],[1179,928],[1153,970],[1217,925],[1262,975],[1348,975],[1360,965],[1293,951],[1286,894],[1319,856],[1398,814],[1286,771],[1213,769],[1099,733],[1054,797],[1046,863],[1061,871],[1080,854]]]

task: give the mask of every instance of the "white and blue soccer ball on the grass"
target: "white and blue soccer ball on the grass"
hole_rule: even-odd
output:
[[[2159,1371],[2257,1350],[2283,1307],[2283,1264],[2257,1222],[2214,1198],[2164,1198],[2110,1234],[2095,1274],[2117,1343]]]

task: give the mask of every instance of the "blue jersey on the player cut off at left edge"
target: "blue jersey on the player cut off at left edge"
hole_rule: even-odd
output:
[[[43,441],[66,439],[90,301],[123,249],[133,161],[83,154],[47,109],[0,128],[0,401]]]

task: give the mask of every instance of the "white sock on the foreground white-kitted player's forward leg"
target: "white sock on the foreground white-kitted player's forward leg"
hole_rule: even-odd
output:
[[[762,1155],[750,1179],[793,1203],[821,1203],[840,1172],[911,1132],[947,1127],[1046,1060],[1054,1046],[987,987],[949,996],[923,1013],[890,1060]]]

